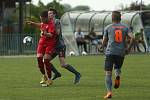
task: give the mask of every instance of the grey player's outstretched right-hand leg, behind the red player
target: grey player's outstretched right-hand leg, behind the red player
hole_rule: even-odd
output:
[[[64,47],[59,51],[58,55],[59,55],[60,64],[63,68],[65,68],[68,71],[75,74],[74,84],[76,84],[80,81],[81,74],[73,66],[71,66],[70,64],[66,64],[66,62],[65,62],[65,50],[66,50],[66,48]]]

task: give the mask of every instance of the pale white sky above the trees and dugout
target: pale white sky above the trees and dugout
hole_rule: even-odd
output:
[[[37,4],[39,0],[32,0],[33,4]],[[52,2],[53,0],[41,0],[45,5],[49,2]],[[141,0],[57,0],[61,4],[69,4],[72,7],[78,6],[78,5],[87,5],[91,8],[91,10],[95,11],[101,11],[101,10],[117,10],[121,8],[121,6],[128,7],[131,2],[138,3],[141,2]],[[145,5],[150,4],[150,0],[142,0]]]

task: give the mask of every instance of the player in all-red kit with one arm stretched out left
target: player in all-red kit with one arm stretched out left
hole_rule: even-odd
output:
[[[48,21],[48,11],[43,11],[40,16],[41,23],[36,23],[32,21],[27,21],[27,23],[40,27],[41,38],[37,47],[37,60],[38,66],[43,74],[45,81],[41,81],[41,84],[52,84],[51,80],[51,64],[49,63],[51,55],[55,51],[56,47],[56,32],[55,32],[55,22],[53,14],[51,16],[50,22]],[[44,60],[43,60],[44,59]],[[44,66],[46,67],[47,73],[45,73]],[[46,75],[48,77],[46,77]]]

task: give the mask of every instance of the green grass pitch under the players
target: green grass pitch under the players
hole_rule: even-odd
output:
[[[62,73],[50,87],[41,87],[36,58],[0,58],[0,100],[103,100],[104,56],[68,57],[67,62],[81,72],[78,85],[74,76],[53,63]],[[128,55],[122,68],[121,87],[113,89],[112,100],[150,99],[150,57]]]

